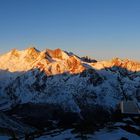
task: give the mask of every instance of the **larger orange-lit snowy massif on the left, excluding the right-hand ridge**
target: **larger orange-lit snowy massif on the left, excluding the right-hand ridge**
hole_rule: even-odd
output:
[[[23,51],[14,49],[0,56],[1,70],[16,72],[28,71],[33,68],[44,70],[48,75],[64,72],[79,73],[85,69],[78,57],[69,55],[61,49],[46,49],[42,52],[35,48]]]

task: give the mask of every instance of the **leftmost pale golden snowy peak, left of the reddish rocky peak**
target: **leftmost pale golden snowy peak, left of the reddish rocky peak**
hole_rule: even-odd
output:
[[[33,64],[38,60],[40,52],[35,48],[28,48],[23,51],[16,49],[0,56],[0,69],[15,71],[27,71],[33,68]]]

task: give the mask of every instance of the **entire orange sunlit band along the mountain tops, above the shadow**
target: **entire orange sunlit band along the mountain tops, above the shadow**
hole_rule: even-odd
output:
[[[139,71],[140,63],[131,61],[129,59],[114,58],[108,61],[98,61],[90,63],[88,61],[80,59],[74,54],[67,53],[61,49],[50,50],[46,49],[42,52],[36,48],[27,48],[23,51],[16,49],[0,56],[0,69],[15,71],[28,71],[32,68],[40,68],[45,70],[47,74],[59,74],[64,72],[80,73],[87,67],[83,64],[87,64],[90,67],[101,70],[110,67],[121,67],[129,71]]]

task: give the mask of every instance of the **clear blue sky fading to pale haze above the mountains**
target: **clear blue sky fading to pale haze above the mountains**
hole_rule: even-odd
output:
[[[140,60],[140,0],[0,0],[0,53],[30,45]]]

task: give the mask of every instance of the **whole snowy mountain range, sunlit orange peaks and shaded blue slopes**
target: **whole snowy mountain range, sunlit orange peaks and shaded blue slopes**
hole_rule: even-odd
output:
[[[85,60],[61,49],[14,49],[1,55],[0,110],[23,105],[15,109],[18,115],[49,120],[71,112],[82,119],[91,115],[102,120],[117,110],[121,100],[140,101],[140,63]],[[26,104],[31,113],[24,109]]]

